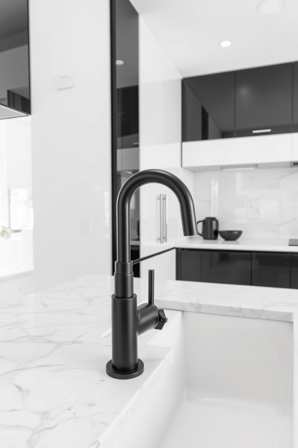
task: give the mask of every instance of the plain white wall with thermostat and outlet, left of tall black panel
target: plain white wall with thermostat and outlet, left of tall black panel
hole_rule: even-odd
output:
[[[109,0],[30,0],[34,283],[111,273]],[[55,77],[74,73],[74,88]],[[81,235],[81,218],[92,235]]]

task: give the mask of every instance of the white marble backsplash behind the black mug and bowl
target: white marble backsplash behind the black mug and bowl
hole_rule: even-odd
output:
[[[196,172],[193,198],[197,220],[216,216],[222,230],[298,238],[298,168]]]

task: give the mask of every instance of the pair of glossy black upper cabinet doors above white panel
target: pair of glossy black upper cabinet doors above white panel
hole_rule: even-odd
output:
[[[182,80],[183,142],[292,130],[298,132],[298,62]]]

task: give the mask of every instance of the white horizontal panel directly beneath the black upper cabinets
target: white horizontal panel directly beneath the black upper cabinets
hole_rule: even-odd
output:
[[[289,164],[291,134],[182,143],[182,166],[203,168],[246,164]]]

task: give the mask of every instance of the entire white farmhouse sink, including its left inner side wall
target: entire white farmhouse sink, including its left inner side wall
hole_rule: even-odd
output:
[[[162,332],[139,337],[139,355],[162,345],[174,362],[112,447],[291,448],[293,323],[166,315]]]

